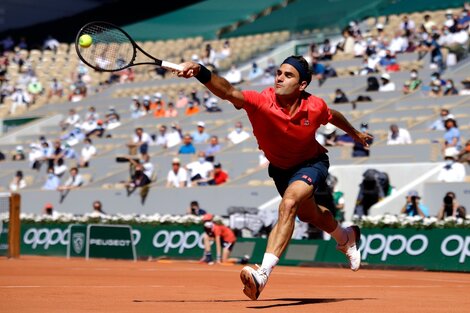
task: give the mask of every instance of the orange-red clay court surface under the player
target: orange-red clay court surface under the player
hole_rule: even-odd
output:
[[[0,258],[0,312],[470,312],[470,274],[278,266],[251,301],[241,268]]]

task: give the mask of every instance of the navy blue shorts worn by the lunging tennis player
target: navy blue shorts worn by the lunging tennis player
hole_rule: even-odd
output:
[[[287,187],[297,180],[313,185],[315,191],[320,184],[325,182],[329,167],[328,155],[324,153],[289,169],[282,169],[269,164],[268,174],[274,180],[277,191],[283,197]]]

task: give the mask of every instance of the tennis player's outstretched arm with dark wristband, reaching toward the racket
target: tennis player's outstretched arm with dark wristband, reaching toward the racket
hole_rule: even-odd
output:
[[[201,64],[194,62],[182,63],[183,71],[178,72],[179,77],[197,78],[217,97],[230,101],[237,109],[243,108],[245,97],[243,93],[232,86],[225,78],[212,73]]]

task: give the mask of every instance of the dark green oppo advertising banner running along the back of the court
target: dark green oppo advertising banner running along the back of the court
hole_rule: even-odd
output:
[[[70,256],[86,256],[87,236],[80,235],[84,227],[22,224],[21,253],[66,256],[71,238]],[[106,244],[127,248],[131,246],[129,239],[114,238],[114,235],[107,236],[107,230],[104,232],[106,234],[99,235],[103,237],[89,245],[90,252],[93,251],[90,257],[95,253],[98,257],[109,257],[107,252],[102,252]],[[198,225],[132,225],[132,240],[138,258],[199,259],[204,250],[203,229]],[[251,263],[259,263],[266,242],[262,238],[239,238],[233,256],[248,254]],[[364,265],[470,272],[468,229],[362,229],[360,249]],[[346,258],[336,250],[334,240],[291,240],[279,264],[300,263],[346,264]]]

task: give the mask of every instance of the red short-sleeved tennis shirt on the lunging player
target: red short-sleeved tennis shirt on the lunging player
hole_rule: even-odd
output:
[[[299,109],[290,116],[276,102],[273,87],[261,93],[243,91],[243,108],[258,146],[276,167],[288,169],[328,151],[315,139],[315,133],[331,119],[330,109],[323,99],[304,94]]]

